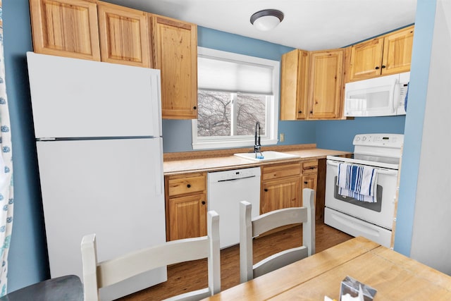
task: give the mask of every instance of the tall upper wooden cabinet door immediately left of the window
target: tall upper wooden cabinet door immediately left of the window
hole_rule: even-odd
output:
[[[151,15],[163,118],[197,118],[197,26]]]

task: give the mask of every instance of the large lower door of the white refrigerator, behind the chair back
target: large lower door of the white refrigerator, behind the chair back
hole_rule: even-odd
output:
[[[82,277],[82,236],[98,259],[166,241],[162,138],[37,142],[51,277]],[[113,300],[166,281],[166,269],[101,289]]]

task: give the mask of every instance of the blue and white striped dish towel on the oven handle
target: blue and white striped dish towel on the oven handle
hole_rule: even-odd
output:
[[[338,164],[338,194],[363,202],[377,202],[377,178],[378,172],[375,168]]]

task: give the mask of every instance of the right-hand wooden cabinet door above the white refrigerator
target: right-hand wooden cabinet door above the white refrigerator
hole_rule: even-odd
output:
[[[99,2],[101,61],[151,68],[147,14]]]

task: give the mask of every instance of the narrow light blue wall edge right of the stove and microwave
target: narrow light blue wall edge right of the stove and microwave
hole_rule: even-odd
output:
[[[409,103],[404,133],[400,194],[397,205],[395,251],[410,255],[423,135],[424,109],[428,92],[429,64],[435,19],[435,0],[419,0],[416,5],[414,47],[409,84]]]

